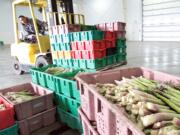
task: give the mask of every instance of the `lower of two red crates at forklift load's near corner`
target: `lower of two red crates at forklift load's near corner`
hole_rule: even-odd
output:
[[[93,50],[93,51],[82,51],[83,59],[98,59],[106,57],[106,49]]]

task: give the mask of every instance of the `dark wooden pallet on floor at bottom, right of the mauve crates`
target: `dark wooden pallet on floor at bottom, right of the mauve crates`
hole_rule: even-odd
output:
[[[70,128],[67,127],[65,124],[56,122],[50,126],[34,131],[33,133],[31,133],[31,135],[61,135],[69,129]]]

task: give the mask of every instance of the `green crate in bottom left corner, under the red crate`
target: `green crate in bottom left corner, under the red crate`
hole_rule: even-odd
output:
[[[18,134],[18,125],[15,124],[12,127],[1,130],[0,135],[19,135]]]

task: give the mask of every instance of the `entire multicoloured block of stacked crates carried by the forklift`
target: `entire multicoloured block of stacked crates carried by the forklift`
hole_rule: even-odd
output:
[[[75,69],[101,69],[126,62],[124,23],[59,25],[52,26],[50,31],[53,64]]]

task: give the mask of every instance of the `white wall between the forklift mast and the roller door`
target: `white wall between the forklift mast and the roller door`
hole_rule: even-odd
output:
[[[86,24],[126,22],[126,38],[142,40],[142,0],[74,0],[75,13],[85,15]]]

